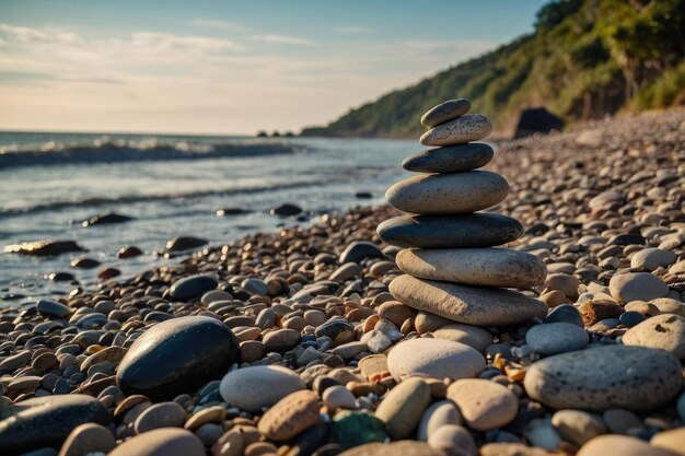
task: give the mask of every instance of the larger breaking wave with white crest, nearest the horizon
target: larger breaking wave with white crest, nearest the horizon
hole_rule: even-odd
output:
[[[177,161],[279,155],[303,151],[288,142],[193,142],[111,139],[103,137],[88,143],[46,142],[40,147],[0,148],[0,169],[24,166],[59,166],[146,161]]]

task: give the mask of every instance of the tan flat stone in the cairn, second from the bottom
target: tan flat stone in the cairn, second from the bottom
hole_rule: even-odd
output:
[[[529,289],[547,274],[543,260],[503,248],[404,249],[395,257],[399,269],[419,279],[471,285]]]

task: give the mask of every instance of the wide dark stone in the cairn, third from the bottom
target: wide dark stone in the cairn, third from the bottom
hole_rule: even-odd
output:
[[[420,248],[490,247],[523,235],[518,220],[496,213],[402,215],[376,231],[387,244]]]

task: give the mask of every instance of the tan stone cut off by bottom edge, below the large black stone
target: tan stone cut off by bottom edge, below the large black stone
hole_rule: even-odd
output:
[[[107,456],[206,456],[205,445],[183,429],[155,429],[127,440]]]

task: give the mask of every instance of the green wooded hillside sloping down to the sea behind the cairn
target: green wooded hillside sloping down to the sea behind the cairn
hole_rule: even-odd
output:
[[[414,137],[422,113],[457,96],[500,129],[541,105],[572,122],[685,104],[684,31],[685,0],[552,1],[533,34],[303,135]]]

